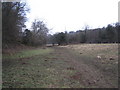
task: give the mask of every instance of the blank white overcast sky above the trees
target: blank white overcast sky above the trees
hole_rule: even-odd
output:
[[[99,28],[118,21],[119,0],[27,0],[27,28],[35,18],[43,20],[51,34],[82,30],[85,25]]]

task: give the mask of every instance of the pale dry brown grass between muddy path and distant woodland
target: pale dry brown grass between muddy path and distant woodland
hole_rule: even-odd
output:
[[[77,44],[68,45],[68,49],[73,49],[80,55],[94,57],[102,63],[112,62],[118,64],[118,44]],[[98,58],[98,56],[101,57]]]

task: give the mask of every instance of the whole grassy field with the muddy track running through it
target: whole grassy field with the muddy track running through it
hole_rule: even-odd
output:
[[[2,62],[3,88],[118,87],[117,44],[27,49],[3,54]]]

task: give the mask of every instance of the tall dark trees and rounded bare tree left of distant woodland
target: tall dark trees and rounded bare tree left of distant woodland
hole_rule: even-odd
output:
[[[26,3],[3,2],[2,3],[2,46],[10,45],[44,45],[47,42],[49,29],[43,21],[35,19],[31,30],[25,29],[27,21],[26,13],[29,11]]]

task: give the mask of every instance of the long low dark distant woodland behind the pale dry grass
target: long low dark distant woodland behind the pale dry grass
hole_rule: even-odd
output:
[[[60,32],[49,35],[48,43],[59,45],[77,43],[120,43],[120,23],[107,27],[78,30],[76,32]]]

